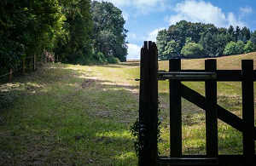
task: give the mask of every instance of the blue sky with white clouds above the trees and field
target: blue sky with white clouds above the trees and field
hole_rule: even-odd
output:
[[[256,30],[255,0],[105,0],[123,11],[128,60],[140,59],[143,41],[179,20],[212,23],[218,27],[247,26]]]

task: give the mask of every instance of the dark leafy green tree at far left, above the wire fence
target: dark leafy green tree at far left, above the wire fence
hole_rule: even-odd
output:
[[[0,4],[1,70],[15,70],[23,56],[54,49],[63,20],[56,0],[3,0]]]

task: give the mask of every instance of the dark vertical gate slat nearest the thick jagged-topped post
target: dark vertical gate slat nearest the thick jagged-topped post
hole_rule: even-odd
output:
[[[169,71],[181,71],[181,60],[169,60]],[[170,154],[171,157],[182,156],[182,107],[181,81],[170,80]]]

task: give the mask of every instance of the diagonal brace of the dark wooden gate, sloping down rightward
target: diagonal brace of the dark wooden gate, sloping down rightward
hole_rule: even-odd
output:
[[[200,107],[203,110],[206,110],[206,102],[205,97],[201,94],[195,92],[193,89],[189,89],[189,87],[185,85],[181,85],[181,94],[185,100],[189,100],[191,103]],[[233,113],[227,111],[222,106],[217,106],[218,118],[222,120],[224,123],[229,124],[234,129],[237,129],[242,132],[242,120],[240,117],[237,117]],[[256,128],[254,127],[254,134],[256,134]],[[254,140],[256,140],[254,136]]]

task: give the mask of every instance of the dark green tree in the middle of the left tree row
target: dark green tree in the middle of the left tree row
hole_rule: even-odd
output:
[[[65,14],[64,34],[58,36],[56,54],[64,62],[86,64],[91,59],[90,0],[59,0]]]

